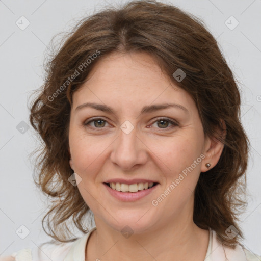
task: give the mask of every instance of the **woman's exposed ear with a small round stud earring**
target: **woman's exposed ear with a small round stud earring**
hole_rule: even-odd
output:
[[[224,120],[222,121],[222,128],[219,129],[218,133],[220,137],[223,137],[225,139],[226,137],[226,124]],[[221,153],[223,151],[224,144],[217,140],[215,137],[207,137],[204,143],[204,151],[203,154],[205,155],[204,160],[202,161],[201,165],[201,172],[206,172],[210,170],[211,168],[215,167],[220,159]],[[210,163],[211,167],[207,168],[205,166],[206,163]]]

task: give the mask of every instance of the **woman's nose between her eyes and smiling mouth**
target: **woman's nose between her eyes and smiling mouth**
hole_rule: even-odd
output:
[[[137,136],[137,128],[126,134],[119,128],[119,137],[113,143],[111,161],[124,171],[131,171],[144,165],[148,158],[144,141]]]

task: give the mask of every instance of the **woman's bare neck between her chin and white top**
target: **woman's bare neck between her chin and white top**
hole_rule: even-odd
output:
[[[99,220],[100,221],[100,220]],[[97,229],[88,240],[87,260],[181,261],[204,260],[209,233],[184,220],[123,237],[120,231],[95,220]]]

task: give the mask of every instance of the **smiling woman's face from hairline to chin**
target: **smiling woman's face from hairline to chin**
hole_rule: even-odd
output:
[[[159,109],[173,103],[178,106]],[[209,146],[191,96],[147,54],[106,57],[73,94],[70,166],[96,225],[139,233],[192,220]],[[119,192],[109,181],[132,184],[118,184],[119,190],[141,190]],[[146,181],[157,185],[145,190]]]

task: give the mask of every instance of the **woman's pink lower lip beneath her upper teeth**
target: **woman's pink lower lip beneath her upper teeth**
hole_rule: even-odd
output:
[[[104,183],[103,183],[103,185],[106,187],[106,189],[109,191],[109,193],[112,196],[114,196],[115,198],[117,198],[118,200],[121,200],[121,201],[136,201],[138,199],[145,197],[146,195],[150,194],[151,192],[153,192],[159,184],[156,184],[155,186],[151,187],[150,189],[139,190],[137,192],[117,191],[117,190],[113,190],[111,187],[107,186]]]

